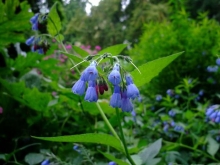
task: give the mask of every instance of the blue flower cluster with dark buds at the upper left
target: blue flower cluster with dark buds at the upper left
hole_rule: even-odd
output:
[[[43,23],[39,22],[39,16],[40,14],[37,13],[30,19],[33,31],[39,30],[39,27],[43,25]],[[41,22],[44,20],[45,17],[41,17]],[[45,54],[48,49],[48,44],[46,42],[42,42],[40,37],[31,36],[25,43],[26,45],[31,46],[32,52],[38,52],[39,54]]]

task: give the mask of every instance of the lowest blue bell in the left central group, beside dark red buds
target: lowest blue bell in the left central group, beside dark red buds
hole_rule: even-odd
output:
[[[89,86],[86,90],[86,95],[84,99],[88,102],[97,102],[98,92],[96,91],[95,81],[89,81]]]

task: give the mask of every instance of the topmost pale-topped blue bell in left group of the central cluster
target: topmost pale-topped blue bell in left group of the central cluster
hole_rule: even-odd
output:
[[[83,72],[83,79],[86,81],[95,81],[98,76],[98,71],[96,69],[97,63],[93,61]]]

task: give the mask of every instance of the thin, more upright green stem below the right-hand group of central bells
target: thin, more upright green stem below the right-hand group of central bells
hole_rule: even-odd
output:
[[[132,165],[135,165],[134,161],[132,160],[132,158],[131,158],[131,156],[128,152],[128,148],[127,148],[127,145],[126,145],[126,142],[125,142],[125,137],[124,137],[124,133],[123,133],[122,126],[121,126],[120,112],[119,112],[118,108],[115,108],[115,109],[116,109],[116,114],[117,114],[117,117],[118,117],[119,130],[120,130],[120,133],[121,133],[121,140],[122,140],[122,143],[123,143],[123,146],[124,146],[124,149],[125,149],[126,157],[128,158],[129,162]]]

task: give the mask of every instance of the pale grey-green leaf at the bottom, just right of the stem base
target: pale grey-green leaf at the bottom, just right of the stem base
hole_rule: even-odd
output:
[[[146,163],[148,160],[152,160],[160,151],[162,145],[162,139],[158,139],[154,143],[152,143],[149,147],[143,149],[139,152],[139,156],[141,157],[143,163]]]

